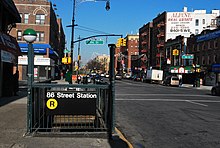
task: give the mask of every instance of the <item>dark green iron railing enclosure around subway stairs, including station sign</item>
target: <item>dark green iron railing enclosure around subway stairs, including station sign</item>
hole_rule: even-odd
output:
[[[107,132],[109,85],[34,83],[28,103],[30,133]]]

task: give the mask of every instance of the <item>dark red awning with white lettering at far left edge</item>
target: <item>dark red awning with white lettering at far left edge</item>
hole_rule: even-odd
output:
[[[0,32],[0,50],[8,51],[15,56],[22,55],[16,39],[3,32]]]

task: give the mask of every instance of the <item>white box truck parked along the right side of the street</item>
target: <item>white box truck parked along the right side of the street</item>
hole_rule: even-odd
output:
[[[145,75],[145,81],[149,83],[162,83],[163,70],[149,69]]]

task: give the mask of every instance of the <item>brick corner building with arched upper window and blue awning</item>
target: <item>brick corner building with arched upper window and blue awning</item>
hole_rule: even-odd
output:
[[[59,54],[65,48],[65,35],[52,3],[47,0],[14,0],[14,3],[21,16],[21,23],[17,23],[11,32],[19,42],[23,54],[18,59],[21,73],[19,79],[27,80],[28,46],[22,37],[27,28],[34,29],[37,33],[37,39],[33,43],[35,80],[55,79],[62,58]]]

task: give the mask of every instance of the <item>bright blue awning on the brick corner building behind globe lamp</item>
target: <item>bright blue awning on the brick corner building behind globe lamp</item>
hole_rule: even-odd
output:
[[[27,43],[19,43],[21,48],[21,52],[27,53],[28,52],[28,44]],[[47,48],[50,50],[50,54],[56,54],[56,52],[51,48],[50,44],[33,44],[34,53],[38,54],[46,54]]]

